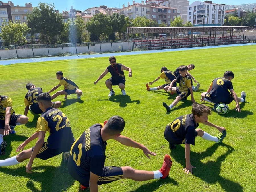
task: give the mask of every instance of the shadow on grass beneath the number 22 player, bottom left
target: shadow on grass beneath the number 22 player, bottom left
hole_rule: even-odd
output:
[[[44,162],[47,163],[47,161]],[[73,179],[67,171],[67,164],[63,161],[61,161],[61,165],[59,167],[49,165],[38,166],[32,167],[32,171],[32,174],[26,173],[25,166],[17,169],[1,167],[1,172],[5,174],[9,174],[14,177],[28,178],[27,188],[33,192],[66,191],[75,182],[75,179]],[[41,183],[41,189],[36,188],[34,182]]]

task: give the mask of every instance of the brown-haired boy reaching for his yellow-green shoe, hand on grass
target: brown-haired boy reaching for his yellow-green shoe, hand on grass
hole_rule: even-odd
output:
[[[192,173],[192,169],[195,168],[190,163],[190,144],[195,145],[195,137],[200,136],[203,139],[221,143],[224,137],[226,137],[226,129],[210,123],[208,121],[208,115],[212,113],[212,110],[202,104],[193,104],[192,113],[188,115],[182,115],[172,123],[169,123],[164,131],[164,138],[169,142],[169,148],[175,149],[176,144],[185,144],[185,158],[186,168],[185,173]],[[202,129],[196,129],[199,123],[215,127],[220,131],[217,136],[212,136]]]

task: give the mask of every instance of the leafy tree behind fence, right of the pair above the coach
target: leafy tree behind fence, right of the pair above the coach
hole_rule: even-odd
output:
[[[125,18],[124,15],[119,15],[119,13],[113,13],[109,17],[113,32],[118,32],[119,39],[121,39],[121,34],[126,31],[126,27],[130,24],[129,17]]]

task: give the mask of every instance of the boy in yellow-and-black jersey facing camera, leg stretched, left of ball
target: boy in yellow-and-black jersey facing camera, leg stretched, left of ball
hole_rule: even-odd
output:
[[[195,103],[193,91],[192,91],[192,80],[187,75],[187,66],[181,65],[179,66],[179,76],[176,77],[170,84],[167,91],[171,91],[174,93],[177,93],[178,96],[175,98],[175,100],[168,106],[166,103],[163,103],[163,106],[166,108],[167,112],[170,112],[171,109],[177,105],[179,100],[183,99],[186,100],[187,96],[191,94],[191,100],[193,103]],[[179,81],[179,87],[172,87],[176,81]]]

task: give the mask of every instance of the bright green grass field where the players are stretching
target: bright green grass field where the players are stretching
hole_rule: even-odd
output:
[[[110,140],[106,148],[106,166],[131,166],[153,171],[160,169],[165,154],[172,157],[173,165],[167,179],[145,182],[123,179],[101,185],[99,191],[255,191],[255,53],[256,46],[250,45],[120,56],[117,62],[131,67],[133,77],[129,78],[125,71],[127,95],[121,95],[119,88],[113,86],[116,95],[111,98],[108,98],[109,90],[104,83],[110,74],[94,85],[109,65],[107,57],[0,66],[0,94],[12,98],[15,113],[24,114],[26,83],[32,82],[43,91],[49,91],[59,83],[55,74],[61,70],[64,77],[72,79],[83,91],[81,100],[77,100],[75,94],[68,96],[68,100],[64,100],[64,96],[54,100],[62,102],[60,109],[69,118],[75,138],[91,125],[119,115],[126,122],[122,134],[157,153],[148,159],[141,150]],[[232,102],[228,105],[228,114],[220,116],[212,112],[209,116],[210,122],[226,128],[227,137],[222,144],[196,138],[195,146],[191,146],[191,164],[196,167],[193,175],[182,171],[185,167],[184,145],[170,151],[163,135],[168,123],[180,115],[191,113],[191,97],[180,101],[170,113],[166,113],[162,102],[170,104],[177,95],[170,95],[164,90],[146,91],[146,83],[160,75],[162,66],[174,71],[179,65],[190,63],[195,64],[190,73],[201,84],[199,91],[194,92],[196,102],[200,102],[201,92],[207,91],[210,82],[222,77],[226,70],[235,74],[232,82],[237,95],[240,97],[241,91],[247,94],[246,102],[240,105],[240,113],[234,110],[236,103]],[[160,79],[151,87],[164,83]],[[212,108],[212,104],[206,105]],[[15,128],[15,135],[4,137],[7,148],[6,154],[0,156],[1,160],[17,155],[16,148],[36,131],[39,115],[28,112],[28,117],[26,125]],[[217,129],[203,124],[199,128],[211,135],[218,133]],[[35,143],[32,141],[26,149]],[[79,191],[80,185],[69,176],[61,155],[47,161],[35,159],[32,174],[25,171],[27,163],[28,160],[16,166],[0,167],[1,192]]]

